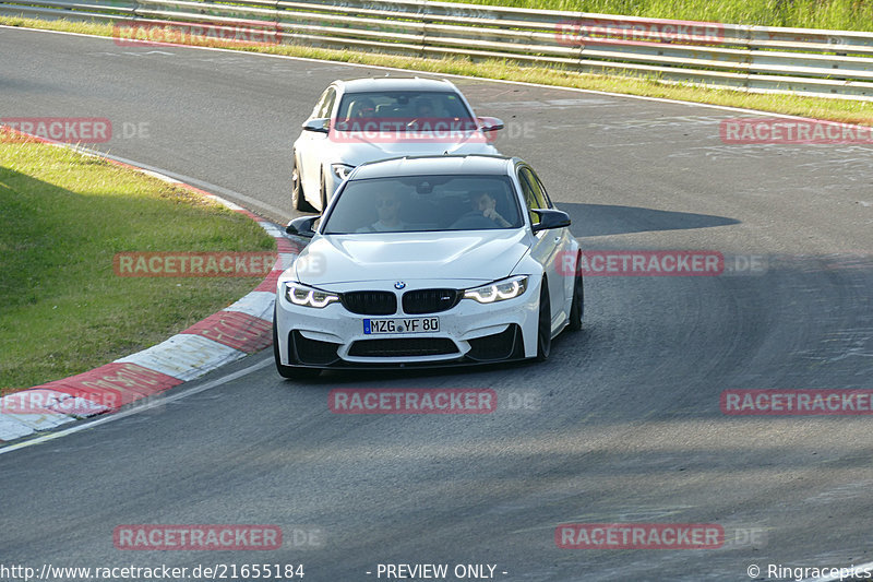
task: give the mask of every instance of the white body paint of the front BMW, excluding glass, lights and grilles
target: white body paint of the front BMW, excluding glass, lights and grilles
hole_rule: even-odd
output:
[[[469,166],[469,165],[483,166]],[[465,166],[466,165],[466,166]],[[479,167],[489,168],[488,174]],[[500,168],[502,174],[494,174]],[[324,215],[322,225],[309,246],[303,249],[295,266],[285,271],[277,282],[276,331],[278,364],[326,368],[354,364],[408,365],[436,363],[473,363],[469,356],[470,340],[482,338],[517,326],[523,340],[524,358],[537,356],[540,288],[543,276],[548,281],[550,299],[551,336],[557,335],[570,322],[574,277],[562,272],[561,259],[578,253],[579,247],[569,228],[560,227],[533,231],[530,215],[524,212],[530,206],[518,175],[529,166],[517,158],[500,156],[430,156],[404,157],[360,166],[351,173],[337,192]],[[531,170],[533,171],[533,170]],[[465,178],[493,176],[510,178],[512,195],[515,197],[524,216],[521,227],[410,230],[399,233],[326,233],[332,213],[348,204],[344,191],[350,185],[372,177],[394,179],[412,176],[428,181],[429,176],[463,176]],[[534,175],[536,177],[536,175]],[[547,194],[548,197],[548,194]],[[548,199],[547,199],[548,200]],[[549,209],[554,210],[550,205]],[[318,264],[319,269],[308,265]],[[303,265],[300,268],[300,265]],[[405,294],[422,289],[452,289],[463,296],[464,289],[492,284],[512,276],[529,277],[524,293],[512,299],[481,304],[462,298],[446,310],[432,312],[406,312],[403,307]],[[402,289],[395,284],[403,282]],[[292,304],[286,296],[286,285],[302,284],[337,294],[342,301],[322,308]],[[374,313],[351,311],[345,295],[352,292],[394,294],[396,311]],[[433,333],[397,333],[373,335],[367,331],[364,320],[410,319],[433,316],[439,318],[440,329]],[[295,338],[294,335],[297,337]],[[451,340],[455,351],[441,354],[352,355],[356,342],[372,340],[395,342],[403,352],[403,342],[409,338]],[[308,348],[303,343],[326,342],[335,344],[335,356],[331,365],[319,365],[307,360],[300,353]],[[325,346],[331,348],[331,346]],[[333,357],[333,356],[331,356]],[[518,356],[513,356],[517,359]],[[475,361],[482,361],[473,358]],[[489,361],[497,361],[494,358]]]

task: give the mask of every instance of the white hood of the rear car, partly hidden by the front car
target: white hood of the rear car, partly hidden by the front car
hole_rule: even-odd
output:
[[[498,154],[497,149],[486,142],[481,132],[470,132],[465,140],[434,141],[392,141],[361,139],[337,143],[333,150],[343,164],[360,166],[364,162],[374,162],[397,156],[443,155],[443,154]]]

